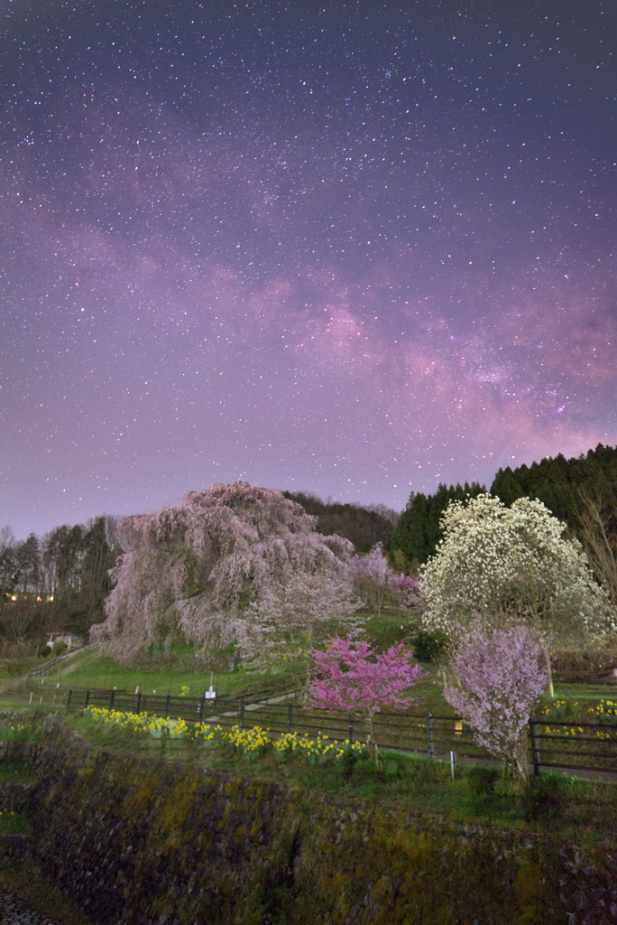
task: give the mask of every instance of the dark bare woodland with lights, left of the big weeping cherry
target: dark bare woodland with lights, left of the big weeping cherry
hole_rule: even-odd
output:
[[[109,570],[120,554],[115,519],[58,526],[18,542],[0,530],[0,633],[23,644],[32,635],[67,630],[86,635],[103,620]]]

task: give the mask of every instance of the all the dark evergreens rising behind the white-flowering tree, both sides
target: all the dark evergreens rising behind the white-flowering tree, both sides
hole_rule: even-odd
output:
[[[440,520],[452,500],[465,502],[486,487],[440,485],[433,495],[412,491],[390,541],[389,558],[394,568],[416,572],[433,555],[442,539]],[[571,533],[589,548],[590,518],[599,515],[611,544],[617,543],[617,447],[601,443],[587,454],[566,460],[562,453],[530,466],[500,469],[490,494],[510,507],[517,498],[536,498],[568,525]],[[609,548],[607,547],[607,549]]]

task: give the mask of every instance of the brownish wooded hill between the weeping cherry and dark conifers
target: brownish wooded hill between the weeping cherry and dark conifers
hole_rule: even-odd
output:
[[[385,549],[389,548],[398,513],[385,504],[369,507],[341,504],[337,501],[322,501],[301,491],[284,491],[284,497],[297,501],[308,514],[317,517],[317,530],[323,536],[345,536],[351,540],[357,552],[368,552],[375,543],[381,543]]]

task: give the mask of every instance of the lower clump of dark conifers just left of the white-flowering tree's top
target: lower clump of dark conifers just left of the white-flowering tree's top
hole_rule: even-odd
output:
[[[477,498],[484,486],[472,482],[460,485],[440,485],[434,495],[411,492],[405,511],[401,514],[390,541],[390,561],[393,568],[413,569],[434,555],[442,539],[442,513],[451,501]],[[397,551],[401,556],[397,558]]]

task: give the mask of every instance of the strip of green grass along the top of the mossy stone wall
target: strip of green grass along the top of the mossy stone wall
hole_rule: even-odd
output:
[[[458,765],[454,780],[442,761],[384,750],[379,767],[368,759],[348,764],[315,764],[297,756],[281,757],[270,748],[257,759],[231,746],[153,739],[127,729],[73,716],[70,721],[94,748],[139,755],[232,774],[250,774],[291,788],[369,803],[397,805],[416,814],[442,815],[465,823],[493,824],[526,832],[551,833],[576,844],[617,844],[617,784],[543,773],[528,788],[516,790],[496,768]]]

